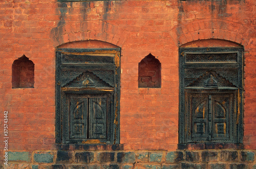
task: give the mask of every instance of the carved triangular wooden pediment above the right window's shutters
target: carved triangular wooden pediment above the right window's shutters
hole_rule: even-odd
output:
[[[224,77],[217,74],[216,71],[206,71],[205,74],[201,75],[197,80],[193,81],[186,87],[210,87],[210,88],[218,88],[218,87],[237,87],[233,85],[231,82],[226,80]]]

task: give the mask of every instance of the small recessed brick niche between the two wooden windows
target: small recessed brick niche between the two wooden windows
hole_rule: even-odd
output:
[[[152,54],[139,62],[138,85],[141,88],[161,87],[161,63]]]

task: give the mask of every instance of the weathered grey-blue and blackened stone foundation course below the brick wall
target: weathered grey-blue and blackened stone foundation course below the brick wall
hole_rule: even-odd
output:
[[[256,168],[255,150],[8,152],[4,168]]]

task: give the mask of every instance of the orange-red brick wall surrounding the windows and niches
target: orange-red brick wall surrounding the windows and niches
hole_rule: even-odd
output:
[[[225,41],[186,46],[244,46],[244,145],[255,150],[255,5],[254,0],[0,2],[0,108],[9,112],[9,149],[55,149],[55,47],[62,45],[121,47],[120,143],[126,150],[176,150],[179,46],[219,39]],[[108,44],[65,44],[81,40]],[[161,88],[138,88],[138,63],[149,53],[161,62]],[[35,64],[34,88],[13,89],[11,66],[23,54]]]

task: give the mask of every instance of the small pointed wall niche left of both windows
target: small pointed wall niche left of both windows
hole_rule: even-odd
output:
[[[12,88],[34,88],[34,63],[25,55],[12,63]]]

